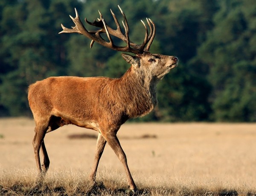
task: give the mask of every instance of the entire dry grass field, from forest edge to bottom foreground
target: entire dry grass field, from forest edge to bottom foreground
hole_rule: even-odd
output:
[[[127,195],[106,145],[87,181],[97,133],[68,125],[45,137],[50,167],[35,170],[32,119],[0,119],[0,195]],[[118,137],[140,195],[256,195],[256,124],[125,124]]]

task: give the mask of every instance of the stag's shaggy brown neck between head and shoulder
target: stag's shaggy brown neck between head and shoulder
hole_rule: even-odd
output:
[[[116,81],[120,99],[129,118],[144,116],[157,105],[157,82],[131,68]]]

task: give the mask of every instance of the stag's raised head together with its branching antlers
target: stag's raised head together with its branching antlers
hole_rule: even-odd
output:
[[[124,22],[122,21],[122,24],[125,29],[125,34],[122,33],[119,22],[116,19],[116,16],[112,10],[111,10],[111,14],[113,15],[113,19],[115,20],[115,23],[116,23],[116,30],[112,29],[107,25],[104,18],[102,17],[102,14],[99,12],[100,18],[98,18],[98,21],[94,20],[93,23],[91,23],[87,21],[86,18],[85,18],[85,21],[86,23],[92,26],[99,27],[100,29],[97,31],[88,31],[84,27],[84,25],[81,23],[81,20],[79,18],[79,15],[76,9],[75,9],[76,17],[73,18],[70,16],[70,18],[73,20],[76,26],[70,29],[70,28],[64,27],[61,24],[63,31],[61,31],[60,33],[83,34],[84,36],[92,40],[90,44],[91,48],[94,42],[97,42],[105,47],[111,48],[116,51],[130,52],[130,53],[136,54],[136,56],[131,56],[129,54],[122,54],[122,57],[126,60],[126,62],[132,65],[131,66],[132,71],[134,71],[137,74],[142,74],[145,78],[148,78],[148,80],[155,80],[155,81],[161,80],[172,68],[175,68],[177,66],[177,62],[178,62],[177,57],[166,56],[162,54],[151,54],[150,52],[148,52],[156,33],[156,28],[153,21],[148,18],[147,18],[147,23],[150,28],[149,34],[148,34],[148,28],[146,27],[143,20],[141,20],[141,22],[143,23],[143,26],[145,27],[145,38],[143,43],[141,45],[137,45],[136,43],[131,42],[128,35],[129,26],[128,26],[125,14],[123,13],[120,7],[119,9],[124,18]],[[107,34],[108,41],[102,38],[101,36],[102,33]],[[126,43],[126,46],[123,47],[123,46],[115,45],[113,43],[111,35],[123,40]]]

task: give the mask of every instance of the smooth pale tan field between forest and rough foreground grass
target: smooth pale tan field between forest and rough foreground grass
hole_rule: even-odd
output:
[[[126,123],[117,135],[135,183],[157,179],[163,186],[178,182],[256,190],[256,123]],[[47,134],[49,173],[89,173],[96,136],[96,131],[73,125]],[[0,172],[35,170],[33,137],[32,119],[0,119]],[[108,145],[97,179],[102,173],[125,179],[122,165]]]

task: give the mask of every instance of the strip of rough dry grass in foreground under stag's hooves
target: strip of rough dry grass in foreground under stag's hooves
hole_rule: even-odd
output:
[[[100,181],[93,185],[87,180],[87,173],[81,170],[50,171],[42,178],[35,170],[0,172],[0,195],[128,195],[125,176],[119,172],[99,172]],[[142,196],[253,196],[255,189],[241,184],[232,187],[228,182],[213,179],[200,182],[196,179],[168,179],[151,176],[137,177],[138,195]],[[131,193],[130,193],[131,194]]]

